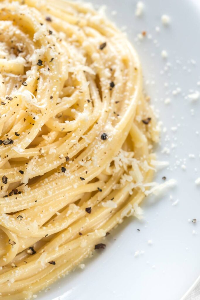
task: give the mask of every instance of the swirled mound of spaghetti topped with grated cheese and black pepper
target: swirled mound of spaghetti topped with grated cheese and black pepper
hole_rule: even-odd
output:
[[[35,298],[141,217],[148,101],[133,46],[90,5],[0,2],[0,299]]]

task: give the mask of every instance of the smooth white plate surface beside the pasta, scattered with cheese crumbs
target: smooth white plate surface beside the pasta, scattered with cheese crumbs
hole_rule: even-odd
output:
[[[103,4],[102,0],[92,2]],[[127,26],[142,61],[145,89],[167,128],[157,153],[160,160],[170,162],[170,167],[157,173],[156,180],[162,182],[162,176],[175,178],[177,187],[153,204],[147,199],[142,204],[145,221],[125,220],[109,236],[106,249],[85,262],[85,269],[59,280],[38,295],[38,300],[178,300],[200,274],[200,186],[195,184],[200,177],[200,133],[196,133],[200,132],[200,99],[193,103],[186,99],[192,93],[190,89],[200,90],[200,2],[143,2],[145,12],[141,18],[135,16],[135,0],[106,0],[105,4],[108,16],[118,27]],[[115,16],[113,10],[117,11]],[[161,23],[163,14],[171,17],[168,27]],[[143,30],[152,38],[138,43],[135,38]],[[162,50],[168,52],[167,60],[161,57]],[[167,62],[170,65],[165,70]],[[177,88],[181,92],[173,95]],[[163,102],[166,98],[171,99],[168,105]],[[170,149],[170,154],[162,154],[164,147]],[[177,199],[178,204],[172,206]],[[188,222],[193,218],[196,223]],[[149,245],[148,240],[153,244]],[[134,257],[137,250],[145,253]]]

